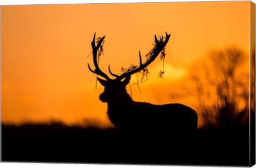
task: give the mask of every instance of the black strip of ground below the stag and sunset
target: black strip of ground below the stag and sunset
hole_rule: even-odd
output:
[[[139,138],[114,127],[2,125],[2,161],[249,166],[249,128]]]

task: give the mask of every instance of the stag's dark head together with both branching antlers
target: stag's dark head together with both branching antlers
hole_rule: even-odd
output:
[[[152,50],[150,57],[144,63],[142,63],[141,54],[139,52],[139,66],[134,66],[133,68],[130,68],[129,70],[125,71],[121,75],[116,75],[112,73],[112,71],[110,70],[110,66],[108,66],[110,75],[114,77],[114,79],[111,79],[108,75],[103,73],[103,71],[99,68],[99,64],[97,62],[98,50],[100,49],[105,36],[101,37],[97,45],[95,45],[95,33],[94,33],[93,41],[91,45],[92,45],[93,63],[94,63],[95,69],[92,70],[89,63],[88,63],[88,67],[92,73],[105,78],[105,79],[97,78],[100,84],[105,87],[105,91],[100,94],[100,100],[102,102],[107,102],[107,103],[111,103],[114,101],[116,102],[118,100],[121,101],[120,98],[122,99],[126,98],[126,101],[130,100],[131,98],[129,94],[127,94],[125,87],[127,84],[129,84],[131,75],[138,73],[139,71],[149,66],[150,63],[153,62],[158,56],[158,54],[164,49],[165,45],[169,41],[170,36],[171,36],[170,34],[168,35],[167,33],[165,33],[165,38],[162,36],[162,37],[159,37],[159,39],[157,39],[155,35],[155,47],[154,47],[154,50]],[[122,81],[122,79],[124,80]]]

